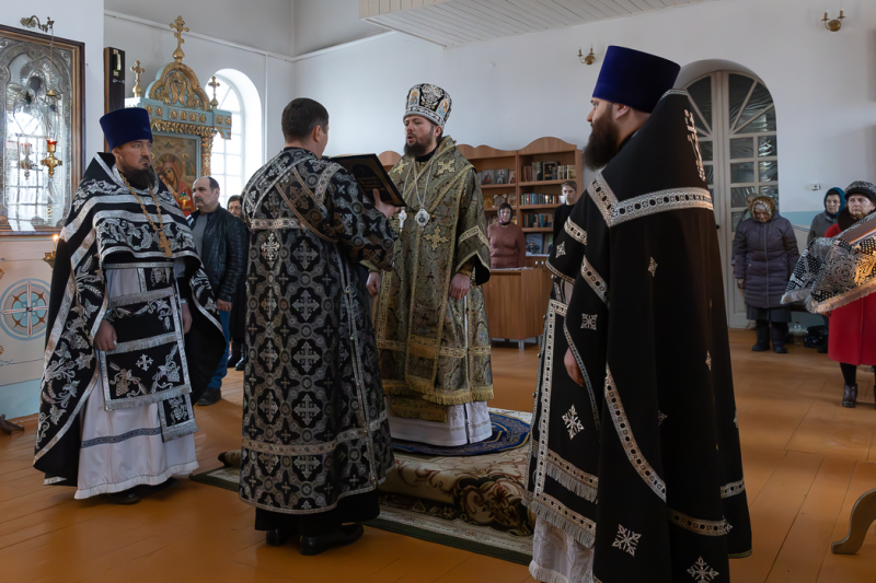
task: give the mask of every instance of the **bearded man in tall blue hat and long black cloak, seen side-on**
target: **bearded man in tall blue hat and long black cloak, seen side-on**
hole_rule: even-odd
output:
[[[712,199],[678,65],[610,47],[550,258],[529,509],[541,581],[727,582],[751,553]]]

